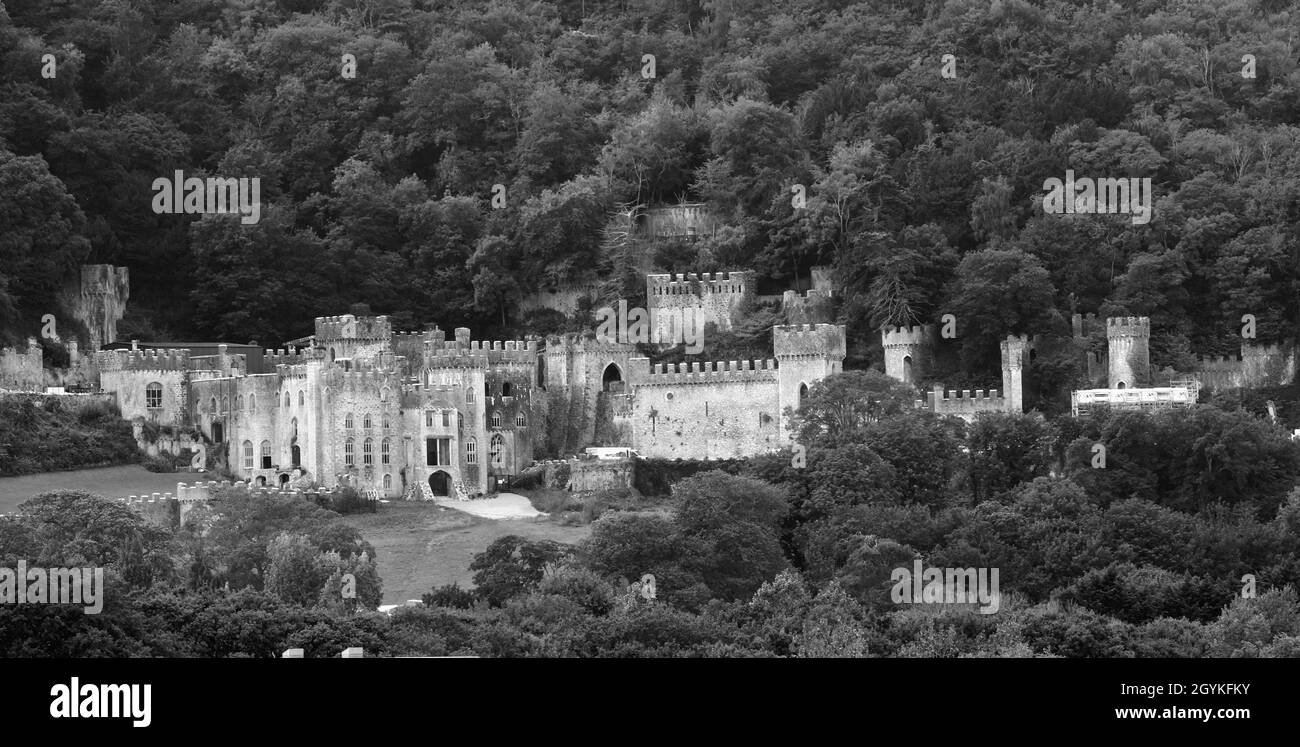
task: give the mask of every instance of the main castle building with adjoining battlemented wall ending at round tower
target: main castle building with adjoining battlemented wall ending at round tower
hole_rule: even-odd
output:
[[[476,342],[456,329],[395,333],[387,317],[321,317],[302,349],[246,356],[101,351],[100,383],[122,417],[198,426],[230,470],[283,485],[295,470],[377,496],[495,492],[533,464],[550,396],[603,412],[647,457],[736,457],[789,443],[784,411],[838,373],[836,325],[774,329],[775,360],[655,365],[634,346],[568,335]],[[598,418],[592,418],[598,420]],[[593,422],[590,439],[599,424]]]

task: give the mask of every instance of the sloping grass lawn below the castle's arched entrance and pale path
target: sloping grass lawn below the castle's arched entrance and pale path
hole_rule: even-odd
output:
[[[445,583],[473,586],[469,561],[500,537],[517,534],[573,544],[592,533],[590,526],[560,526],[547,520],[478,518],[425,501],[380,504],[377,513],[343,518],[361,531],[380,556],[384,604],[420,599]]]

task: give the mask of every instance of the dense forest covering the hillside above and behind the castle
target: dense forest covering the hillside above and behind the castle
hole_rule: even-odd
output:
[[[835,266],[850,362],[953,313],[948,381],[978,382],[993,340],[1095,312],[1149,316],[1176,366],[1235,352],[1243,313],[1260,342],[1295,330],[1297,29],[1280,0],[6,0],[0,333],[86,261],[130,266],[142,339],[278,344],[354,303],[546,331],[521,295],[636,298],[649,252]],[[1045,216],[1066,169],[1150,178],[1150,222]],[[260,178],[260,222],[155,214],[174,170]],[[725,227],[611,240],[681,200]]]

